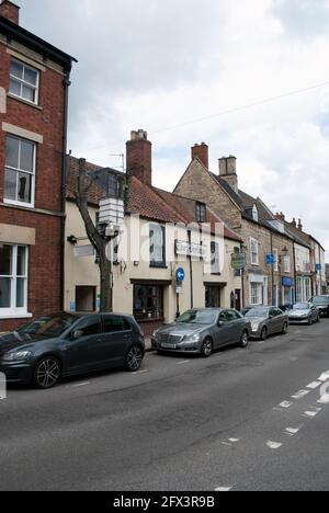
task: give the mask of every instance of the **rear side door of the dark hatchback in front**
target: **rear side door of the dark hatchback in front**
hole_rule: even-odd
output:
[[[123,316],[103,316],[102,357],[106,366],[123,365],[133,342],[133,329]]]

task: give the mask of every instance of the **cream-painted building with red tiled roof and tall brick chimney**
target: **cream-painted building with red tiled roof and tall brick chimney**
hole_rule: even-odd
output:
[[[240,251],[241,238],[205,203],[152,186],[151,162],[147,134],[133,132],[127,142],[124,233],[111,252],[113,309],[133,314],[146,334],[193,307],[241,307],[241,276],[230,265],[231,254]],[[70,157],[65,307],[92,311],[98,308],[100,275],[95,255],[79,250],[88,241],[73,201],[77,169],[77,159]],[[106,171],[113,174],[113,170]],[[90,190],[92,219],[97,219],[100,200],[109,196],[102,183],[98,180]],[[183,271],[182,281],[177,276],[179,270]]]

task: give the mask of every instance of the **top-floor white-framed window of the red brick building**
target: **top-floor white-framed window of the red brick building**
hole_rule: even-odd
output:
[[[34,105],[38,104],[39,71],[16,59],[10,62],[9,92]]]

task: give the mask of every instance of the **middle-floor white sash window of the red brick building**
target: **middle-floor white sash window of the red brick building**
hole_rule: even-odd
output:
[[[36,145],[8,135],[5,141],[5,203],[34,206]]]

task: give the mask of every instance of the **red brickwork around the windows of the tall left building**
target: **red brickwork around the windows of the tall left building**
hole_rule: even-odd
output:
[[[9,88],[10,55],[0,45],[0,87]],[[0,122],[43,135],[37,145],[35,208],[61,212],[61,149],[64,123],[64,77],[47,69],[41,71],[39,105],[42,110],[8,98],[7,114]],[[0,124],[0,203],[3,202],[5,136]],[[29,312],[34,317],[59,311],[61,219],[0,206],[0,223],[35,228],[36,244],[30,248]],[[25,320],[0,320],[0,332],[25,323]]]

